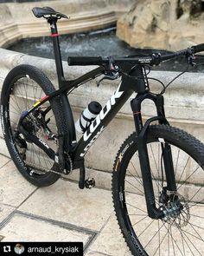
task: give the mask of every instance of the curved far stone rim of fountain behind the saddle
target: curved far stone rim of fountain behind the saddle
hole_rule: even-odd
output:
[[[0,47],[8,47],[16,40],[30,36],[49,36],[48,24],[41,18],[37,19],[32,8],[50,6],[65,13],[71,18],[62,19],[58,23],[61,34],[87,30],[98,30],[115,24],[130,7],[132,0],[61,0],[33,3],[0,3]]]

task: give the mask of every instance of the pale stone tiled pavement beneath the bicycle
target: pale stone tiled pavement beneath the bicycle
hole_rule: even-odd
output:
[[[0,240],[82,241],[84,255],[130,256],[115,220],[112,194],[57,181],[36,188],[0,155]]]

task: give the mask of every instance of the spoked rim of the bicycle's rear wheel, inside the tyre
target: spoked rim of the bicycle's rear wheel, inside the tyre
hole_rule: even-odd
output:
[[[45,96],[44,91],[29,76],[19,76],[15,82],[10,86],[9,102],[7,105],[7,115],[8,115],[8,128],[11,144],[13,144],[12,149],[18,154],[24,163],[26,171],[33,178],[41,178],[43,175],[47,175],[54,167],[54,161],[48,158],[48,155],[44,153],[41,148],[38,148],[34,143],[26,141],[23,135],[20,135],[20,140],[26,141],[27,148],[19,147],[19,140],[16,140],[15,135],[17,131],[17,123],[23,111],[28,110],[33,106],[35,102]],[[50,108],[49,102],[45,102],[41,105],[41,110]],[[35,129],[29,128],[29,133],[34,133],[42,141],[45,141],[50,148],[56,152],[56,141],[48,141],[46,139],[46,133],[43,128],[41,128],[40,123],[36,125],[35,117],[29,115],[29,119],[33,118],[33,124],[35,124]],[[56,123],[54,120],[54,114],[52,109],[48,111],[45,115],[45,120],[48,121],[48,128],[57,135]],[[28,122],[27,122],[28,123]],[[29,121],[31,125],[32,121]],[[27,127],[28,128],[28,127]]]

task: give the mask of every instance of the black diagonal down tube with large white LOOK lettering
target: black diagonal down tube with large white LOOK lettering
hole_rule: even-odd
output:
[[[93,142],[95,142],[99,135],[104,131],[105,127],[113,117],[118,113],[119,109],[123,107],[124,103],[130,98],[133,90],[122,91],[121,83],[118,89],[113,93],[112,97],[108,100],[105,107],[102,108],[99,115],[92,121],[92,124],[87,128],[85,134],[80,139],[77,147],[74,150],[74,160],[80,160],[85,156],[88,149],[91,148]]]

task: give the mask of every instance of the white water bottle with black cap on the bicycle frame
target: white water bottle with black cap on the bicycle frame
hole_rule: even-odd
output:
[[[75,128],[79,133],[84,134],[91,122],[99,115],[102,109],[99,102],[90,102],[85,110],[81,113],[78,121],[75,122]]]

